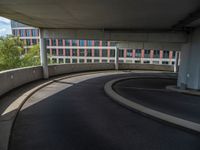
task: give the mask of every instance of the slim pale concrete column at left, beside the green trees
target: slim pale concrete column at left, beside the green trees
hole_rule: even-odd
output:
[[[48,70],[47,50],[46,50],[45,39],[43,37],[42,29],[40,29],[40,61],[43,68],[43,77],[44,79],[48,79],[49,70]]]

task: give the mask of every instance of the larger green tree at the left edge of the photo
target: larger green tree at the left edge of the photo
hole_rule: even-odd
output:
[[[13,36],[0,38],[0,70],[21,67],[23,42]]]

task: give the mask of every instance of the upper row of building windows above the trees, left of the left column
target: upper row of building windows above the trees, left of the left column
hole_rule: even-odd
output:
[[[39,36],[38,29],[13,29],[12,32],[14,36],[20,36],[20,37],[38,37]]]

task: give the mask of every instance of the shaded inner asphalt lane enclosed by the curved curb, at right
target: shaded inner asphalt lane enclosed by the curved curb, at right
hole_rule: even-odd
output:
[[[121,96],[172,116],[200,123],[200,96],[166,90],[174,79],[130,79],[114,85]]]

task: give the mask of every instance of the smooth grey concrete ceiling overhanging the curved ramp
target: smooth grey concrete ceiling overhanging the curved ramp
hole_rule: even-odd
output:
[[[199,7],[199,0],[0,0],[0,16],[42,28],[169,30]],[[200,25],[191,20],[181,27]]]

